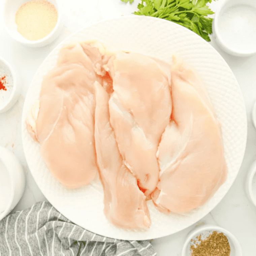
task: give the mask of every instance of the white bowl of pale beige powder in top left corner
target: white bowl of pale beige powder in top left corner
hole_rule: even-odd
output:
[[[39,4],[35,4],[36,2]],[[52,11],[52,5],[57,12]],[[3,18],[7,33],[30,47],[51,43],[63,27],[60,0],[4,0]],[[53,24],[56,25],[52,26]]]

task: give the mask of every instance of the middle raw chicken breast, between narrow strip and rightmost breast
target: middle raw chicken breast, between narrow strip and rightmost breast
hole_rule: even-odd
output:
[[[118,148],[149,195],[159,180],[156,152],[171,114],[168,77],[156,61],[138,53],[117,53],[108,67],[114,89],[110,123]]]

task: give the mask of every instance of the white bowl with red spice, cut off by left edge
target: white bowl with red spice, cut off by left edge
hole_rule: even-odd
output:
[[[0,113],[11,108],[20,96],[20,83],[11,65],[0,57],[0,78],[6,76],[5,89],[0,90]]]

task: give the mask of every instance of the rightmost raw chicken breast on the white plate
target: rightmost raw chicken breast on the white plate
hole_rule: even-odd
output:
[[[227,175],[220,124],[198,77],[173,59],[172,120],[159,144],[160,181],[152,194],[165,213],[185,213],[202,205]]]

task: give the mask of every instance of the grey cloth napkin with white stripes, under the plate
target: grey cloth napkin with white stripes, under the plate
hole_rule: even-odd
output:
[[[0,221],[0,256],[155,256],[149,241],[123,241],[77,226],[49,202]]]

